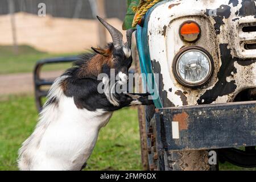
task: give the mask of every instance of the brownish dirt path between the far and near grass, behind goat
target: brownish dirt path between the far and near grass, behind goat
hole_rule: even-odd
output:
[[[42,78],[56,78],[62,71],[43,72]],[[0,95],[34,92],[32,73],[0,75]]]

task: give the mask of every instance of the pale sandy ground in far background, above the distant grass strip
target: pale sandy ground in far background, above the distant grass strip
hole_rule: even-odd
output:
[[[0,45],[13,44],[10,20],[10,15],[0,16]],[[43,52],[81,52],[99,42],[96,20],[16,13],[15,22],[18,44],[27,44]],[[112,18],[108,22],[122,31],[121,20]],[[122,33],[125,35],[125,31]],[[107,39],[108,42],[112,40],[108,32]]]

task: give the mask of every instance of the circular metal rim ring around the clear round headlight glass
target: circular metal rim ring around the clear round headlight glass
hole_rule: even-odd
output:
[[[201,53],[203,53],[205,56],[208,57],[208,60],[209,60],[209,73],[208,75],[205,77],[204,80],[200,81],[200,82],[196,82],[196,83],[192,83],[192,82],[188,82],[188,81],[185,81],[180,73],[177,71],[178,69],[178,61],[179,61],[179,58],[181,56],[184,55],[184,53],[188,52],[188,51],[199,51]],[[182,48],[177,54],[176,56],[174,57],[174,63],[172,64],[172,71],[174,73],[174,76],[176,78],[176,80],[183,86],[187,86],[187,87],[191,87],[191,88],[196,88],[196,87],[200,87],[202,85],[204,85],[205,83],[207,83],[209,80],[210,80],[210,77],[212,77],[212,74],[213,74],[213,70],[214,70],[214,62],[213,62],[213,59],[212,59],[212,56],[210,55],[210,53],[205,50],[204,48],[202,47],[199,47],[199,46],[188,46],[188,47],[185,47],[185,48]]]

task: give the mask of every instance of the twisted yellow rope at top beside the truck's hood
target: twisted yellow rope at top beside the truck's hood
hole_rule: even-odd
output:
[[[133,27],[135,27],[138,22],[142,19],[144,14],[147,13],[147,10],[149,10],[152,6],[154,6],[156,3],[162,0],[141,0],[139,2],[139,5],[137,7],[133,7],[133,11],[135,12],[135,16],[133,19]]]

